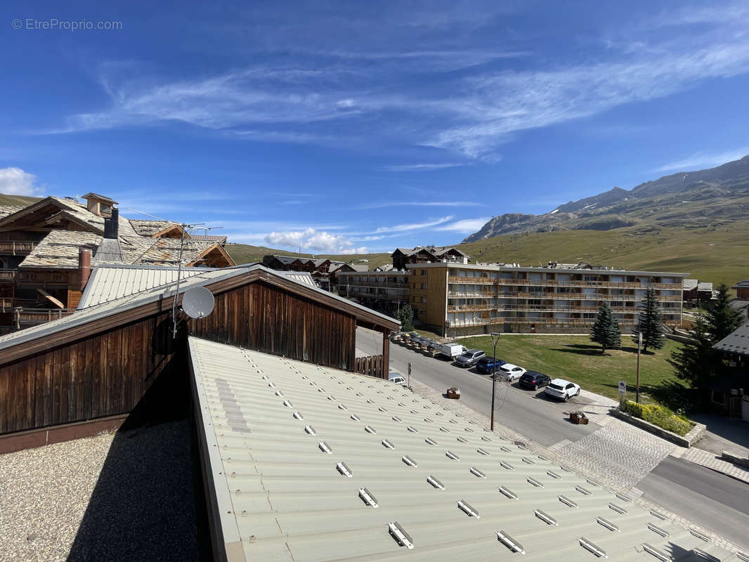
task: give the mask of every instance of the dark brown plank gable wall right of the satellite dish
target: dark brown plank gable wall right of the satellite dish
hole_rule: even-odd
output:
[[[339,309],[255,282],[215,295],[190,333],[263,353],[354,371],[357,320]]]

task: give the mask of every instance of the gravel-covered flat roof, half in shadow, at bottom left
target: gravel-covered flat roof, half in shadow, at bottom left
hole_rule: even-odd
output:
[[[0,455],[0,561],[198,560],[187,420]]]

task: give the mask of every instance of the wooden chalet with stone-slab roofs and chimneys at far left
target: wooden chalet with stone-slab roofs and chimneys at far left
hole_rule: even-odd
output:
[[[177,223],[128,220],[112,199],[97,193],[84,199],[85,205],[50,196],[22,208],[1,208],[0,330],[73,312],[83,286],[81,250],[91,251],[91,265],[177,265],[183,237]],[[184,265],[234,265],[222,244],[184,234]]]

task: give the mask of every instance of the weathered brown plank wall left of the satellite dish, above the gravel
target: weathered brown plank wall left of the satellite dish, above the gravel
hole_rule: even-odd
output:
[[[161,312],[0,366],[0,434],[133,410],[157,378],[184,376],[171,328]]]

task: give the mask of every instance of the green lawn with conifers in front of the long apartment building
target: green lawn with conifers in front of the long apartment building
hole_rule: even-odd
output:
[[[463,343],[462,338],[456,341]],[[493,352],[488,336],[468,336],[464,343],[479,348],[488,355]],[[640,392],[649,394],[652,387],[673,378],[673,368],[667,363],[671,351],[681,346],[666,340],[655,354],[640,356]],[[580,384],[584,390],[619,399],[619,381],[626,381],[627,396],[634,399],[637,380],[637,345],[630,336],[622,336],[622,349],[606,351],[586,336],[500,336],[497,357],[528,370],[543,372],[551,378],[565,378]]]

